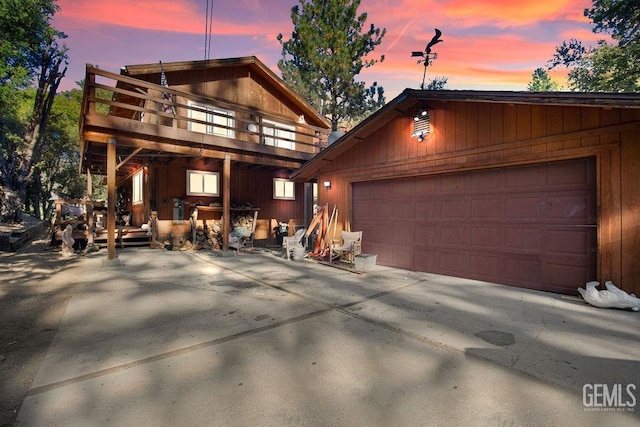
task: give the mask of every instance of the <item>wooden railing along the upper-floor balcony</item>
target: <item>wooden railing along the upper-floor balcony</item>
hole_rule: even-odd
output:
[[[225,138],[244,147],[256,144],[309,154],[327,146],[330,132],[306,123],[303,116],[293,121],[89,65],[82,109],[81,128],[88,117],[105,116],[122,119],[116,127],[128,132],[145,128],[149,135],[148,126],[159,126]]]

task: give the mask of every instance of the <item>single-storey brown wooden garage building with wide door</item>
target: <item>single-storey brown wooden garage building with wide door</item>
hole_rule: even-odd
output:
[[[296,170],[378,264],[640,294],[640,96],[407,89]]]

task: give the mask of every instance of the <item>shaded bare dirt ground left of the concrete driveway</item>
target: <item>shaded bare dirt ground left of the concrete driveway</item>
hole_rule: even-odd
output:
[[[15,226],[13,226],[15,228]],[[48,233],[0,252],[0,426],[12,426],[77,282],[51,280],[79,262],[49,248]]]

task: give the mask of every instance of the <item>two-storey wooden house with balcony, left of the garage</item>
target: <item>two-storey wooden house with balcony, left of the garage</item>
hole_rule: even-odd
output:
[[[330,123],[257,58],[86,73],[81,170],[107,177],[108,259],[152,211],[160,241],[189,238],[195,209],[199,226],[220,221],[224,250],[237,214],[258,212],[256,239],[274,222],[308,222],[311,185],[288,176],[326,145]]]

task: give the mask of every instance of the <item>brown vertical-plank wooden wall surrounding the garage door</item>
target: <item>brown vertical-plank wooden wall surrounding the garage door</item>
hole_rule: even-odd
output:
[[[411,138],[412,114],[327,162],[320,203],[350,228],[351,183],[595,156],[598,278],[640,293],[640,111],[464,101],[432,102],[431,136]],[[413,113],[413,111],[411,112]]]

